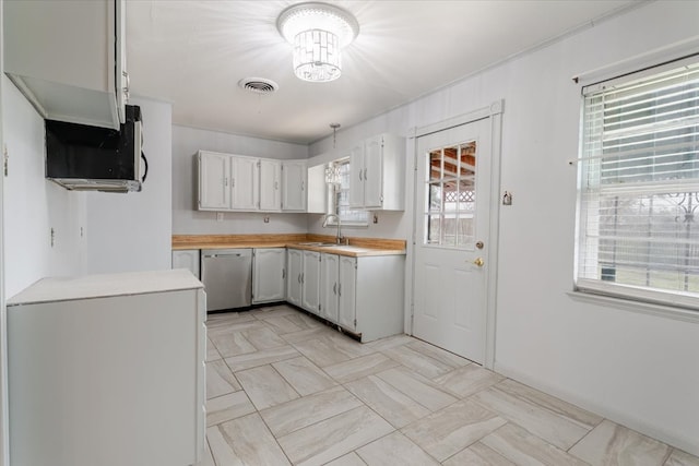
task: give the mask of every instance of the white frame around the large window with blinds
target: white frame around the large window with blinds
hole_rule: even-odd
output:
[[[589,136],[590,132],[587,131],[585,127],[585,104],[588,96],[591,95],[600,95],[604,92],[605,86],[624,86],[627,83],[633,83],[641,79],[656,76],[666,71],[673,69],[679,69],[684,65],[694,65],[699,67],[699,56],[692,56],[690,58],[685,58],[682,60],[676,60],[672,62],[666,62],[657,67],[644,68],[638,72],[626,73],[621,76],[614,77],[611,80],[601,81],[599,83],[594,83],[588,86],[583,86],[581,88],[581,108],[580,108],[580,135],[579,135],[579,159],[578,159],[578,186],[577,186],[577,215],[576,215],[576,237],[574,237],[574,268],[573,268],[573,295],[588,295],[591,296],[592,299],[595,297],[600,300],[607,302],[608,300],[625,300],[629,302],[636,302],[637,307],[654,307],[655,310],[661,314],[668,314],[673,312],[682,313],[686,315],[689,312],[691,315],[696,315],[699,319],[699,291],[684,291],[684,290],[674,290],[674,289],[663,289],[659,287],[652,286],[635,286],[629,284],[608,282],[602,278],[602,272],[597,278],[589,278],[581,276],[581,250],[588,248],[589,244],[585,243],[585,234],[589,231],[585,225],[584,215],[587,211],[583,206],[583,191],[585,190],[585,176],[590,172],[590,168],[585,166],[585,164],[590,163],[591,159],[595,157],[585,157],[585,141]],[[695,117],[696,118],[696,117]],[[687,117],[687,119],[691,119],[691,117]],[[653,141],[656,141],[654,139]],[[699,153],[695,152],[696,154]],[[603,155],[600,158],[604,158]],[[654,167],[654,165],[653,165]],[[596,175],[601,176],[602,168],[596,169]],[[659,195],[660,193],[666,191],[673,191],[671,188],[683,189],[685,186],[689,190],[690,193],[699,192],[699,178],[690,178],[688,181],[680,180],[677,183],[672,183],[672,187],[664,186],[661,188],[663,182],[650,182],[649,187],[653,187],[655,184],[655,189],[647,188],[645,191],[638,190],[638,196],[641,195]],[[671,183],[667,183],[671,184]],[[619,192],[624,191],[624,186],[620,183],[616,183],[612,187],[600,188],[597,194],[600,193],[613,193],[615,190]],[[642,193],[641,193],[642,192]],[[674,191],[673,191],[674,192]],[[601,208],[601,207],[600,207]],[[697,217],[699,217],[699,212],[697,212]],[[597,217],[599,214],[597,211]],[[616,215],[616,214],[615,214]],[[648,214],[650,218],[650,213]],[[698,222],[699,218],[695,222]],[[697,225],[699,228],[699,225]],[[649,235],[653,234],[652,227],[649,227]],[[615,244],[616,248],[616,244]],[[596,254],[600,254],[601,246],[596,247]],[[653,264],[648,264],[648,266]],[[650,271],[650,268],[648,268]],[[679,271],[678,268],[676,268]],[[684,271],[687,274],[687,271]],[[692,318],[694,319],[694,318]]]

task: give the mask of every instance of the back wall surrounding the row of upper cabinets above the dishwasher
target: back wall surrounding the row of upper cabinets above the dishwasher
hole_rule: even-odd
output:
[[[304,214],[225,213],[196,211],[197,151],[277,159],[306,159],[308,146],[277,141],[173,127],[173,232],[175,235],[247,235],[306,232]],[[270,222],[264,223],[269,216]]]

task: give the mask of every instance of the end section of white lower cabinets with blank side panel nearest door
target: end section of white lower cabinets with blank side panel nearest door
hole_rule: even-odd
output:
[[[323,319],[371,342],[403,333],[404,255],[322,254]]]

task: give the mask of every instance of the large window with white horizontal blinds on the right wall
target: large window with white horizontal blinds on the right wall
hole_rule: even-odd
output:
[[[699,309],[699,63],[677,67],[583,88],[579,290]]]

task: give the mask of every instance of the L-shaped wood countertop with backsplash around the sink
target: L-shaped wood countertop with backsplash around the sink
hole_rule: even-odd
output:
[[[402,239],[347,238],[347,240],[348,244],[335,246],[335,237],[329,235],[173,235],[173,250],[294,248],[354,258],[405,255],[405,240]],[[323,246],[310,243],[323,243]]]

